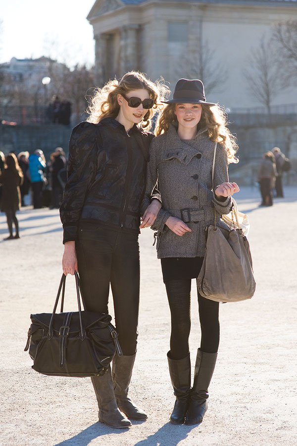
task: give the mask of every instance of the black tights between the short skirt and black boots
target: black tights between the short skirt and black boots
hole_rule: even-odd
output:
[[[189,353],[191,280],[170,280],[165,283],[171,312],[171,359],[182,359]],[[201,327],[200,349],[206,353],[216,353],[220,340],[219,303],[205,299],[198,293],[198,305]]]

